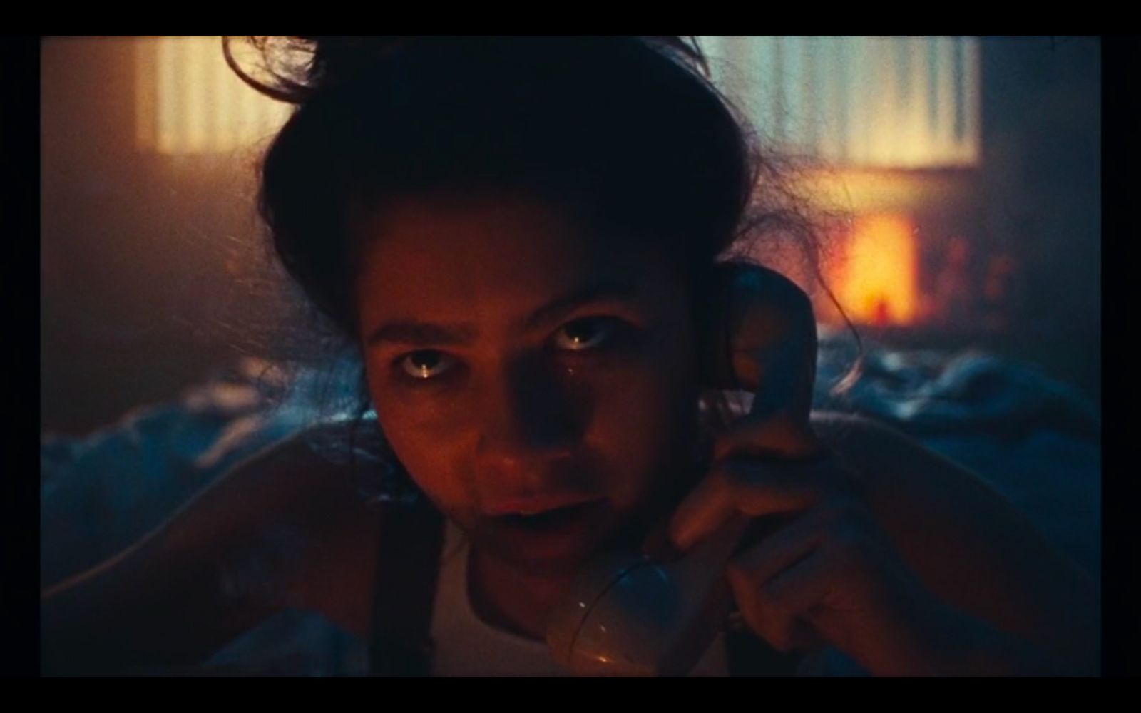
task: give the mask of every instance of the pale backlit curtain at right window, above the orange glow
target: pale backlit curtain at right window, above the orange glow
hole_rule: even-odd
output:
[[[979,161],[979,42],[953,37],[698,38],[713,79],[777,147],[831,164]]]

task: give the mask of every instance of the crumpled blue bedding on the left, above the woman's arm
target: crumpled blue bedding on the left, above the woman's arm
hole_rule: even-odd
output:
[[[304,410],[268,411],[248,366],[176,402],[141,406],[81,438],[40,444],[40,580],[121,551],[243,457],[297,432]]]

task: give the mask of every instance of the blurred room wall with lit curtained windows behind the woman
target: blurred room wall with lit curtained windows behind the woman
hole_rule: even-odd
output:
[[[1097,38],[701,38],[828,225],[823,274],[899,349],[1033,362],[1100,405]],[[209,38],[42,43],[41,427],[82,434],[237,362],[276,309],[254,213],[288,107]],[[839,314],[793,246],[762,261]]]

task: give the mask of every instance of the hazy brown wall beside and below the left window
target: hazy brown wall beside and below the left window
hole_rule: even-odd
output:
[[[46,39],[41,60],[42,426],[83,431],[234,358],[253,159],[137,149],[130,40]]]

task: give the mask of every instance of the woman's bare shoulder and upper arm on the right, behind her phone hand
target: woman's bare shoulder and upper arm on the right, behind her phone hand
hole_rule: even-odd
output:
[[[952,607],[1095,673],[1097,580],[981,477],[873,419],[817,412],[904,560]]]

